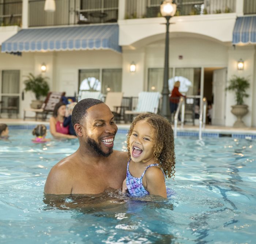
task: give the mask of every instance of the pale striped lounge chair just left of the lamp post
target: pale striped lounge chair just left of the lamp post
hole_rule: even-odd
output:
[[[132,116],[147,112],[157,113],[160,98],[161,94],[159,92],[140,92],[136,108],[132,111],[126,110],[124,113]]]

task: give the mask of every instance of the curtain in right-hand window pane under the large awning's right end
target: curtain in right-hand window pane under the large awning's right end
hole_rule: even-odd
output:
[[[122,91],[122,69],[102,70],[102,93]]]

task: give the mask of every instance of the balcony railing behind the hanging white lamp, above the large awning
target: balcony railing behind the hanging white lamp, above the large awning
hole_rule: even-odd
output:
[[[56,11],[44,11],[45,0],[29,1],[29,26],[117,22],[118,0],[55,0]],[[79,5],[78,5],[79,4]]]

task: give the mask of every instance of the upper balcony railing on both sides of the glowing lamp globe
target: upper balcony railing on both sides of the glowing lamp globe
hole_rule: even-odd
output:
[[[179,15],[235,12],[236,0],[176,0]],[[159,0],[126,0],[125,19],[161,17]]]

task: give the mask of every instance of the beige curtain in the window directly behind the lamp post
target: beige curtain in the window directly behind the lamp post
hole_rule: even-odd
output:
[[[162,92],[163,89],[163,68],[148,69],[148,92]],[[173,69],[169,68],[169,78],[172,78]]]

